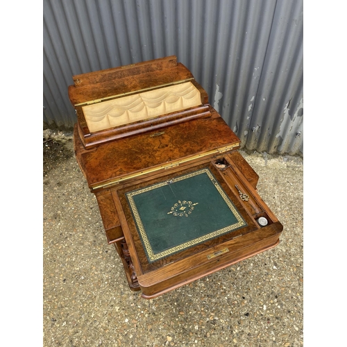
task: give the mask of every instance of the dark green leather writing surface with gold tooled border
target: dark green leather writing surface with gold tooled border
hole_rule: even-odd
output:
[[[149,262],[247,225],[209,169],[126,197]]]

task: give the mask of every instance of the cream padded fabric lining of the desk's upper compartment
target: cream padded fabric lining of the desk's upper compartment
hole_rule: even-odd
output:
[[[90,133],[201,105],[191,82],[83,106]]]

